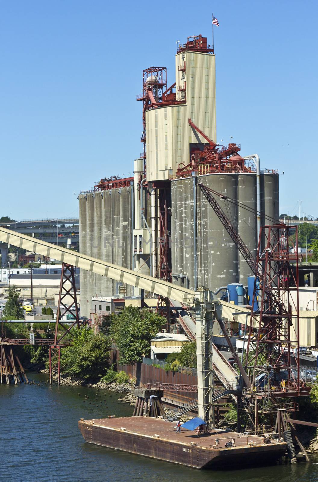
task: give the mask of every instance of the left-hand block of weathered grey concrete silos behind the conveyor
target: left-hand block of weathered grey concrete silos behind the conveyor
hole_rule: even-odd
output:
[[[80,253],[132,269],[131,196],[131,187],[80,194]],[[81,316],[90,318],[92,296],[117,292],[116,281],[80,270]]]

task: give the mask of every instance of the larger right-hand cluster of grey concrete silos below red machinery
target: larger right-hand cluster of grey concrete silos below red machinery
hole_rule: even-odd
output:
[[[262,174],[261,177],[261,218],[264,225],[270,224],[269,217],[278,219],[279,216],[278,175]],[[244,206],[237,206],[217,199],[256,257],[256,175],[210,174],[198,176],[199,183],[244,203]],[[206,286],[213,291],[228,283],[247,284],[247,276],[252,272],[198,186],[197,250],[198,286]],[[172,181],[172,274],[177,273],[187,275],[189,287],[194,288],[192,178]],[[174,278],[173,282],[184,285],[185,279]]]

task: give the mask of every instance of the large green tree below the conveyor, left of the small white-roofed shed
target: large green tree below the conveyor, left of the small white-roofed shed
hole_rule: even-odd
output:
[[[111,335],[118,346],[119,364],[141,362],[150,355],[150,340],[165,324],[165,319],[148,308],[128,306],[112,316]]]

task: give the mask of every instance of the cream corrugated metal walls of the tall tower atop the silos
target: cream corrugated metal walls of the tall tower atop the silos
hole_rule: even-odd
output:
[[[185,77],[178,66],[185,62]],[[188,124],[193,122],[216,141],[215,56],[196,52],[176,55],[176,94],[186,82],[186,104],[146,111],[147,180],[174,176],[180,163],[189,162],[189,144],[206,140]],[[169,172],[171,171],[171,172]]]

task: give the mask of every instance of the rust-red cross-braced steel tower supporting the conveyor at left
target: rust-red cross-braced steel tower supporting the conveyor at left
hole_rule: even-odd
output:
[[[70,284],[70,286],[69,286]],[[71,304],[67,303],[67,297],[71,298]],[[71,310],[71,308],[75,308]],[[62,310],[62,311],[61,311]],[[72,317],[72,323],[66,326],[62,323],[61,319],[64,315],[69,314]],[[74,267],[63,263],[61,272],[60,291],[58,297],[56,322],[55,322],[55,334],[53,345],[49,348],[49,374],[50,383],[52,383],[52,374],[57,372],[57,383],[60,384],[61,369],[60,369],[60,355],[61,345],[65,346],[65,342],[62,342],[63,338],[70,334],[70,330],[74,325],[80,328],[79,308],[77,304],[76,296],[76,284],[74,276]],[[62,343],[61,343],[62,342]]]

